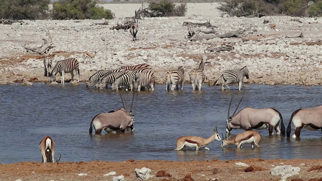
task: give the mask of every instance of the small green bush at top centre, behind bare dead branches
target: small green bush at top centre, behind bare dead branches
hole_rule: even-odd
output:
[[[187,5],[181,3],[180,5],[175,5],[171,0],[161,0],[161,1],[152,1],[149,4],[148,9],[156,15],[160,16],[185,16],[187,12]]]

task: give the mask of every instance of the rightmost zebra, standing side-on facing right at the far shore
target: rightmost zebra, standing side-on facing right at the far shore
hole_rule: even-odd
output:
[[[244,76],[246,76],[247,79],[250,78],[247,66],[241,68],[240,70],[225,70],[221,73],[221,75],[217,78],[213,85],[215,85],[221,77],[221,91],[224,90],[224,86],[226,86],[228,90],[230,90],[228,83],[239,83],[238,89],[240,91],[241,85],[243,85]]]

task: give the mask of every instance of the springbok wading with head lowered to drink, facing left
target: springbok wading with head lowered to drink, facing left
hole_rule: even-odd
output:
[[[256,145],[259,148],[260,141],[262,139],[261,134],[253,130],[248,130],[243,133],[239,133],[231,140],[229,140],[230,136],[231,135],[227,137],[227,134],[225,135],[225,137],[222,139],[221,147],[225,147],[226,145],[237,145],[237,148],[241,148],[242,144],[247,143],[252,144],[252,148],[254,148],[254,145]]]

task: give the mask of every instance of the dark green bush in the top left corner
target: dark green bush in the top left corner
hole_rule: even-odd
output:
[[[0,19],[46,19],[49,3],[50,0],[0,0]]]

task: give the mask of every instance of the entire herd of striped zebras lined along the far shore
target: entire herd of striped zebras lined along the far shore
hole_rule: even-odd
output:
[[[204,55],[201,59],[199,67],[189,72],[189,77],[193,89],[201,90],[202,83],[207,78],[205,73],[203,72],[206,59],[207,56]],[[64,84],[64,73],[70,73],[71,79],[73,80],[73,70],[75,70],[77,81],[79,81],[79,62],[77,59],[67,58],[64,60],[59,60],[50,72],[49,68],[52,68],[52,66],[53,64],[50,56],[46,56],[44,58],[44,76],[50,76],[51,82],[56,81],[57,73],[59,73],[61,76],[62,84]],[[99,70],[89,78],[87,88],[90,88],[95,84],[95,89],[101,90],[108,88],[108,85],[110,84],[112,91],[115,91],[122,86],[126,86],[127,89],[130,89],[132,91],[140,91],[141,87],[153,91],[155,84],[155,75],[151,69],[151,65],[142,63],[138,65],[122,66],[118,69]],[[175,87],[179,89],[179,84],[180,89],[183,89],[185,78],[184,73],[185,71],[183,66],[180,66],[178,69],[169,70],[167,72],[166,90],[168,91],[171,89],[171,91],[173,91]],[[246,78],[249,78],[249,70],[247,66],[244,66],[240,70],[224,70],[215,80],[213,85],[215,85],[219,78],[221,78],[222,91],[224,90],[224,86],[226,86],[227,89],[230,89],[228,83],[238,83],[238,89],[240,91],[245,76]],[[170,84],[172,84],[171,88]]]

